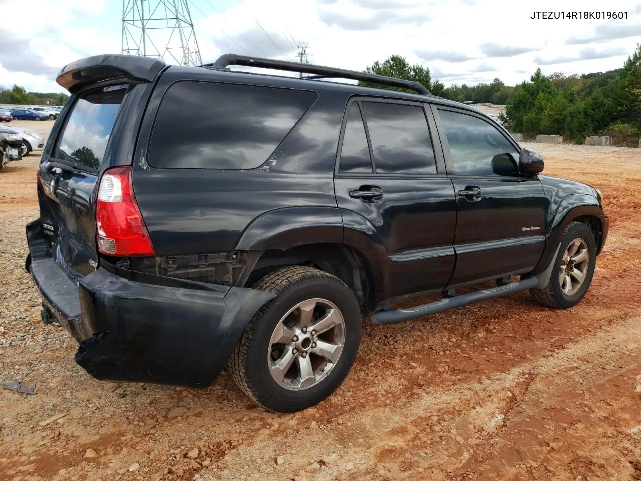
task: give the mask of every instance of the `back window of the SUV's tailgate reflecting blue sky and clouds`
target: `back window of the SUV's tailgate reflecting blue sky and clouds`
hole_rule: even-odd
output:
[[[125,92],[126,85],[112,85],[78,96],[67,117],[56,157],[99,169]]]

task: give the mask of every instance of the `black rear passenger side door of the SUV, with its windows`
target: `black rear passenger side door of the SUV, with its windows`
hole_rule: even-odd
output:
[[[382,239],[386,297],[442,289],[454,267],[456,201],[431,113],[420,103],[354,99],[343,130],[338,207],[365,217]]]

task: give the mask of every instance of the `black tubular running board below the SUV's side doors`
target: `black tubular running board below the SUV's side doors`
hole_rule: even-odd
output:
[[[492,289],[483,289],[482,291],[469,292],[468,294],[459,294],[458,296],[444,297],[441,300],[423,304],[408,309],[379,310],[372,314],[372,324],[397,324],[404,321],[410,321],[419,317],[436,314],[444,310],[454,309],[457,307],[467,306],[479,301],[494,299],[512,292],[525,291],[532,287],[537,287],[539,279],[535,276],[528,277],[515,282],[508,282],[503,285],[497,285]]]

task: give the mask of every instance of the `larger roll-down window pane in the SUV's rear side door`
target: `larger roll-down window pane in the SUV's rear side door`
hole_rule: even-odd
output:
[[[377,174],[437,172],[422,107],[374,102],[362,106]]]

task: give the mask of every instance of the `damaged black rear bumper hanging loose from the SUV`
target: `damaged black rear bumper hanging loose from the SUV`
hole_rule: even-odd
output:
[[[79,342],[76,362],[97,379],[207,387],[254,312],[274,297],[132,271],[125,278],[108,265],[73,281],[42,257],[33,224],[27,265],[43,304]]]

